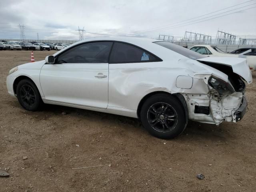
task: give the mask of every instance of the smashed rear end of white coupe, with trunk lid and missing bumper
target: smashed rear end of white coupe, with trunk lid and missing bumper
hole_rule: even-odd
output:
[[[219,125],[223,121],[238,122],[247,109],[246,82],[252,83],[248,62],[243,58],[207,57],[198,62],[224,74],[201,76],[208,86],[208,94],[185,94],[190,110],[189,118]]]

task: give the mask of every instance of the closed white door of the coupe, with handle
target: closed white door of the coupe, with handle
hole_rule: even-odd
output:
[[[98,74],[106,77],[95,77]],[[108,64],[45,64],[40,84],[46,100],[106,109]]]

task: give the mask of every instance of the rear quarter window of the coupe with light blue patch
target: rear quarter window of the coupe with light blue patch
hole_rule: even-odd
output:
[[[110,63],[136,63],[160,61],[159,58],[136,46],[114,42],[110,55]]]

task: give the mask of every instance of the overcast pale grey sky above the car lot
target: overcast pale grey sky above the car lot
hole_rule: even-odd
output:
[[[247,1],[0,0],[0,38],[19,39],[19,24],[26,26],[26,39],[37,39],[38,33],[39,39],[78,40],[78,26],[86,30],[84,38],[158,38],[159,34],[180,38],[186,30],[214,38],[218,29],[256,38],[256,8],[252,8],[256,0]],[[234,6],[236,4],[240,5]],[[234,7],[215,12],[230,6]],[[215,13],[209,14],[211,12]],[[220,14],[222,12],[226,13]],[[230,14],[232,12],[236,13]],[[225,14],[230,15],[223,16]],[[209,20],[214,17],[219,18]]]

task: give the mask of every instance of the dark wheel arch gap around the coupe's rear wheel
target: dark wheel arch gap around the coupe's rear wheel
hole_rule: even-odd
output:
[[[181,104],[181,106],[182,106],[183,109],[184,109],[185,119],[186,119],[186,126],[187,126],[187,124],[188,124],[188,106],[187,106],[187,104],[186,104],[186,100],[185,100],[184,96],[183,96],[182,94],[180,94],[180,93],[171,94],[171,93],[165,92],[165,91],[155,91],[155,92],[151,92],[151,93],[145,95],[145,96],[140,100],[140,102],[139,102],[139,104],[138,104],[138,108],[137,108],[137,116],[138,116],[138,118],[140,119],[140,110],[141,110],[142,105],[144,104],[144,102],[145,102],[148,98],[150,98],[151,96],[156,95],[156,94],[160,94],[160,93],[166,94],[166,96],[168,96],[168,95],[169,95],[169,96],[174,96],[174,97],[176,97],[176,98],[180,101],[180,104]],[[186,126],[185,126],[185,127],[186,127]]]

